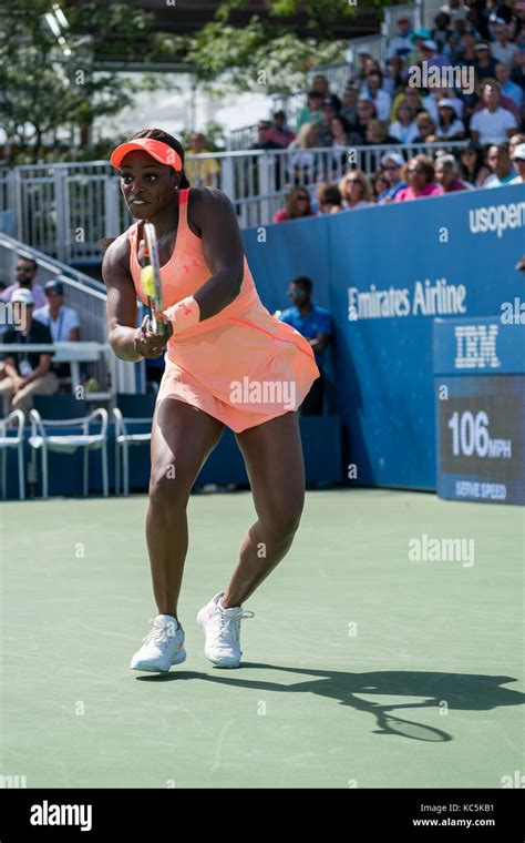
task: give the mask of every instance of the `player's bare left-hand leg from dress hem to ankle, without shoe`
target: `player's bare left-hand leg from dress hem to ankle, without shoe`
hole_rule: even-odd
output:
[[[195,479],[224,425],[174,398],[157,405],[152,427],[152,474],[146,538],[159,615],[177,617],[186,558],[186,506]]]

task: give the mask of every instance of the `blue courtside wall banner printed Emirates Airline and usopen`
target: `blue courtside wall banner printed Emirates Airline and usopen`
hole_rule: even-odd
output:
[[[433,321],[515,309],[524,235],[524,185],[245,232],[270,312],[288,306],[290,280],[306,274],[333,317],[346,476],[436,488]]]

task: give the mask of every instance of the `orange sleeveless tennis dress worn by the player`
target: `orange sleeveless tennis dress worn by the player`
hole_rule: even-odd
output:
[[[161,267],[165,308],[196,293],[212,276],[202,241],[188,226],[189,187],[178,195],[175,248]],[[130,271],[137,296],[146,304],[140,284],[137,226],[128,228]],[[165,362],[157,402],[186,402],[235,433],[297,409],[319,377],[307,339],[260,302],[246,256],[239,295],[220,313],[172,336]]]

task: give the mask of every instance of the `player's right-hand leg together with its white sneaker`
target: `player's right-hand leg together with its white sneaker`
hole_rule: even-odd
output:
[[[206,642],[204,652],[220,668],[237,668],[241,603],[290,548],[305,498],[305,465],[297,413],[237,434],[258,520],[248,530],[226,592],[219,592],[197,615]]]

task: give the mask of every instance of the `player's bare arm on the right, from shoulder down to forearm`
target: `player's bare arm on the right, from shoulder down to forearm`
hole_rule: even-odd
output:
[[[244,246],[234,206],[225,193],[206,187],[191,199],[191,221],[200,232],[212,277],[194,293],[200,322],[220,313],[238,296],[244,275]]]

